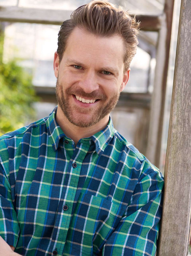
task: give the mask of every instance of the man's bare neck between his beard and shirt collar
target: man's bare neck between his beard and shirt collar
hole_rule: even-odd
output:
[[[59,124],[65,135],[68,138],[72,139],[75,145],[77,145],[80,139],[89,138],[90,136],[104,129],[109,122],[109,115],[103,118],[97,124],[92,125],[90,127],[78,127],[72,124],[63,114],[60,108],[58,108],[56,113],[56,122]]]

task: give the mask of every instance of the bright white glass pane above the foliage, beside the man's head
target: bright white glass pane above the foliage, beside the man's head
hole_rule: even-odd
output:
[[[33,84],[55,86],[54,52],[60,26],[13,23],[5,28],[3,59],[19,59],[33,77]]]

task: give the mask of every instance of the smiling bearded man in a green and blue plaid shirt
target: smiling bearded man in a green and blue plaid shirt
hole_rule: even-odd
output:
[[[109,117],[137,33],[134,18],[102,1],[62,24],[58,108],[0,140],[5,255],[155,255],[163,178]]]

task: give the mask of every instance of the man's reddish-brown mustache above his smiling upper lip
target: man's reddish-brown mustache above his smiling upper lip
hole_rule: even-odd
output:
[[[56,87],[60,87],[61,84],[56,83]],[[57,88],[58,89],[58,88]],[[91,93],[86,93],[84,92],[84,90],[82,88],[77,88],[77,87],[70,87],[68,89],[65,90],[65,94],[69,94],[69,95],[72,95],[72,94],[75,94],[77,96],[80,96],[82,98],[89,98],[89,99],[102,99],[102,100],[106,100],[107,97],[105,94],[103,94],[102,92],[98,92],[98,91],[93,91]]]

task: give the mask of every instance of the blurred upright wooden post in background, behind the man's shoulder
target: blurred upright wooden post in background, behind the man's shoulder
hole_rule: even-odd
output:
[[[174,0],[165,0],[157,46],[146,157],[159,167]]]

